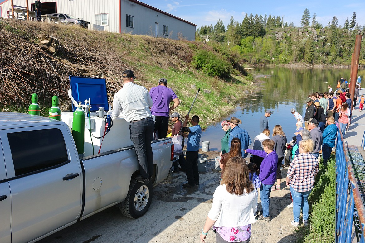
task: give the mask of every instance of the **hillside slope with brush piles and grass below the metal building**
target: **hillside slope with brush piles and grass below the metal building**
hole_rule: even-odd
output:
[[[53,95],[59,96],[61,109],[70,109],[66,95],[70,75],[105,78],[112,102],[122,87],[122,72],[131,69],[136,83],[147,89],[159,78],[167,78],[181,101],[176,109],[181,114],[186,114],[201,88],[192,114],[200,115],[204,126],[227,114],[252,89],[252,78],[239,75],[223,80],[193,68],[193,56],[202,49],[222,60],[229,58],[203,43],[11,19],[0,19],[0,32],[3,111],[26,111],[32,93],[39,95],[42,115],[47,115]]]

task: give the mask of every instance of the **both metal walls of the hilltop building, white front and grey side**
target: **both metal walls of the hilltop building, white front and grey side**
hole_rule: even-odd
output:
[[[57,3],[57,13],[74,15],[92,24],[96,24],[96,13],[108,13],[108,26],[104,30],[117,33],[120,4],[122,33],[155,36],[155,23],[158,23],[159,37],[178,39],[180,33],[188,40],[195,40],[195,26],[128,0],[42,0],[42,3],[49,2]],[[29,0],[29,9],[31,3],[34,1]],[[26,7],[26,0],[14,0],[14,5]],[[7,17],[10,9],[11,1],[1,4],[2,16]],[[134,28],[127,27],[127,15],[134,17]],[[168,35],[164,35],[164,25],[168,26]]]

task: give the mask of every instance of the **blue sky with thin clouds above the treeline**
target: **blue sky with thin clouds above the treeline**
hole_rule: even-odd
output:
[[[293,22],[300,27],[301,16],[304,9],[308,8],[311,18],[316,13],[317,21],[327,26],[333,16],[338,19],[338,24],[342,27],[346,18],[351,19],[353,12],[356,12],[356,23],[364,26],[365,24],[365,1],[364,0],[140,0],[162,11],[187,20],[197,27],[212,24],[213,26],[219,19],[223,20],[227,27],[231,16],[235,21],[242,22],[245,14],[254,16],[265,13],[274,16],[284,15],[284,23]]]

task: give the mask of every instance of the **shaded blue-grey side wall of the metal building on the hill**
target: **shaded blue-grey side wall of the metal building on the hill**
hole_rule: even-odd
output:
[[[158,23],[158,36],[178,39],[181,33],[188,40],[195,40],[195,26],[164,15],[128,0],[122,0],[122,33],[155,36],[155,23]],[[134,17],[134,28],[127,27],[127,15]],[[169,35],[164,35],[164,25]]]

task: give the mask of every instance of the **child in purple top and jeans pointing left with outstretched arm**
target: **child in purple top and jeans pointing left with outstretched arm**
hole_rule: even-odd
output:
[[[262,142],[262,147],[264,151],[254,150],[254,149],[242,149],[245,153],[250,153],[256,156],[263,157],[260,166],[260,175],[258,176],[261,181],[260,187],[260,199],[262,211],[257,219],[270,221],[269,214],[269,204],[270,204],[270,193],[271,188],[276,181],[276,169],[277,169],[277,153],[274,150],[274,141],[271,139],[266,139]]]

